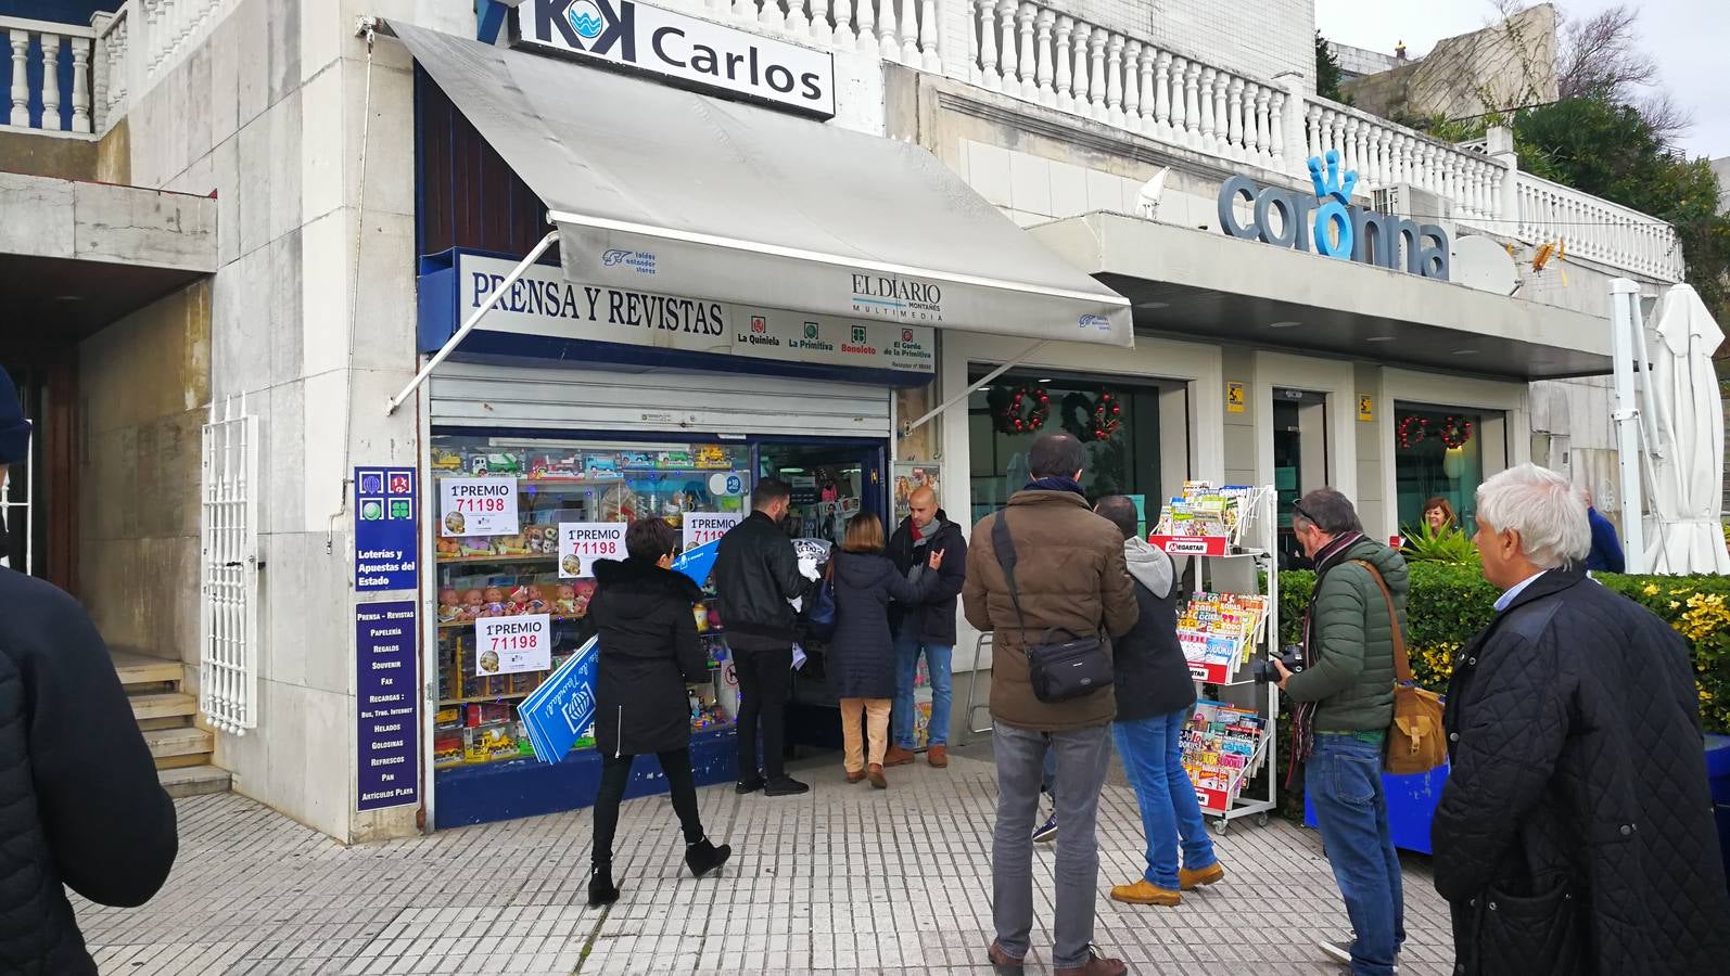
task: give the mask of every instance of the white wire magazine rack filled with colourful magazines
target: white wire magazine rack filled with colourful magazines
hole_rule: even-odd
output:
[[[1187,496],[1206,492],[1192,485]],[[1251,662],[1265,658],[1278,643],[1278,567],[1273,487],[1216,489],[1235,501],[1235,518],[1225,532],[1189,536],[1156,529],[1149,542],[1171,555],[1178,579],[1190,579],[1194,606],[1204,617],[1225,617],[1225,636],[1180,629],[1190,674],[1211,691],[1197,701],[1183,731],[1183,765],[1195,786],[1204,814],[1216,817],[1225,833],[1232,821],[1256,817],[1266,824],[1277,807],[1275,717],[1278,688],[1253,677]],[[1161,518],[1159,529],[1169,529]],[[1194,560],[1194,574],[1185,572]],[[1249,599],[1242,599],[1249,598]],[[1232,615],[1261,606],[1253,624],[1233,629]],[[1180,617],[1187,617],[1180,605]],[[1223,643],[1230,641],[1230,651]],[[1247,795],[1258,781],[1265,789]]]

